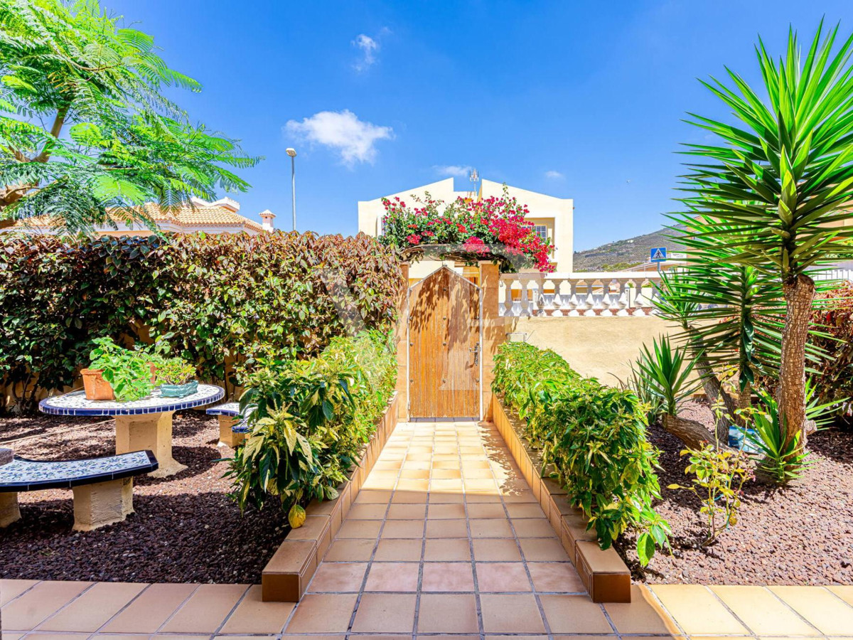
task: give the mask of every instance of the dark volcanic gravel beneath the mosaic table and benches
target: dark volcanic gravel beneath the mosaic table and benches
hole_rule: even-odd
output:
[[[136,476],[136,513],[92,532],[72,531],[70,490],[19,493],[20,521],[0,529],[0,578],[259,583],[287,518],[275,503],[241,516],[222,477],[233,451],[217,439],[215,416],[176,413],[172,455],[188,468]],[[115,430],[103,418],[2,416],[0,446],[38,460],[108,456]]]

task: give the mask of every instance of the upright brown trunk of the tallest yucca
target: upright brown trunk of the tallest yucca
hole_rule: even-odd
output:
[[[782,329],[779,388],[781,428],[790,442],[800,434],[799,446],[805,446],[805,343],[809,338],[811,306],[815,300],[815,281],[800,274],[782,284],[786,315]]]

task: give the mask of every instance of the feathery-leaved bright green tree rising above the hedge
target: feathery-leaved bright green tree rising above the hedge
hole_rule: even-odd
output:
[[[120,20],[97,0],[0,0],[0,228],[148,222],[142,202],[247,189],[227,167],[258,160],[190,123],[163,91],[200,84]]]

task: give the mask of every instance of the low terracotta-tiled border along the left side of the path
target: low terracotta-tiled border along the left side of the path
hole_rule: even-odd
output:
[[[394,392],[373,437],[363,448],[357,467],[351,469],[350,479],[338,486],[339,497],[323,502],[311,500],[305,508],[305,524],[287,533],[287,538],[267,562],[261,573],[263,602],[299,602],[305,595],[317,566],[397,426],[399,399],[399,394]]]

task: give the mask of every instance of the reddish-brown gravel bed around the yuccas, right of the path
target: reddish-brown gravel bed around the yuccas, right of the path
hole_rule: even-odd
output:
[[[693,401],[680,416],[710,428],[711,410]],[[634,578],[648,583],[699,585],[853,585],[853,433],[827,428],[809,436],[811,466],[783,489],[757,482],[745,487],[737,525],[701,549],[699,500],[670,490],[688,485],[682,442],[653,425],[649,440],[661,451],[658,513],[670,522],[674,556],[660,552],[648,567],[637,561],[634,540],[620,538],[619,554]]]

